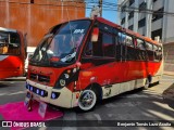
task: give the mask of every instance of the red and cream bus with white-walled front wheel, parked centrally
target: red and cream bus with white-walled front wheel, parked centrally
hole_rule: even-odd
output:
[[[26,98],[91,110],[103,99],[159,82],[162,50],[161,43],[102,17],[59,24],[29,61]]]

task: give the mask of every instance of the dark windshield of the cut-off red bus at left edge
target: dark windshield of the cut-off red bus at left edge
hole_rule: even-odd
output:
[[[20,36],[16,32],[0,31],[0,54],[20,54]]]

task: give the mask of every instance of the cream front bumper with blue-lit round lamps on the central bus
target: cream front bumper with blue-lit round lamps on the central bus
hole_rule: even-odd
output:
[[[53,89],[52,87],[40,84],[32,80],[26,81],[27,91],[33,95],[34,100],[45,102],[60,107],[71,108],[73,92],[66,87],[62,89]]]

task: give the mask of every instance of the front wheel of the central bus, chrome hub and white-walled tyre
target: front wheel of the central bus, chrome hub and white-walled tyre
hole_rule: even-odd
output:
[[[97,103],[97,95],[94,90],[85,90],[78,100],[78,106],[82,110],[91,110]]]

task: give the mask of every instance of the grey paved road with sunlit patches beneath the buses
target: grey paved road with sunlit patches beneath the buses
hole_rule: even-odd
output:
[[[78,113],[74,109],[63,109],[64,116],[59,120],[98,120],[88,121],[94,125],[90,129],[97,130],[97,125],[102,125],[103,120],[174,120],[174,109],[169,107],[162,100],[161,93],[174,82],[174,77],[164,76],[161,83],[148,90],[135,90],[98,104],[92,112]],[[0,82],[0,104],[9,102],[24,101],[24,81],[1,81]],[[0,117],[0,119],[3,119]],[[111,121],[112,122],[112,121]],[[84,122],[82,122],[84,123]],[[96,125],[95,125],[96,123]],[[33,128],[34,130],[38,128]],[[47,130],[88,130],[88,127],[59,127],[41,128]],[[101,130],[115,130],[114,127],[100,127]],[[125,130],[173,130],[172,127],[116,127]],[[30,128],[28,129],[30,130]]]

